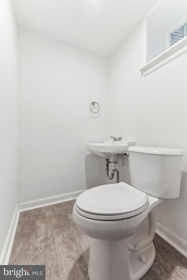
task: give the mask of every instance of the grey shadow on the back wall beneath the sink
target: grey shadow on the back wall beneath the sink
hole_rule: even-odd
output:
[[[93,154],[86,155],[85,173],[87,189],[107,184],[104,158]]]

